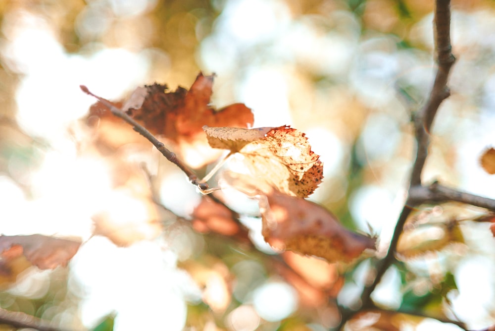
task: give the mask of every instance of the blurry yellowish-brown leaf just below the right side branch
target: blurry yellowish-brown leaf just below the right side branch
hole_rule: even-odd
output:
[[[405,228],[397,243],[397,255],[402,258],[414,258],[463,243],[464,236],[459,222],[425,223]]]

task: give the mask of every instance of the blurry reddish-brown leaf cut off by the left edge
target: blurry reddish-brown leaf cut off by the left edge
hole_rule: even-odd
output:
[[[41,234],[0,236],[2,258],[13,259],[24,255],[29,262],[40,269],[67,266],[69,260],[77,253],[79,246],[81,246],[81,241]]]

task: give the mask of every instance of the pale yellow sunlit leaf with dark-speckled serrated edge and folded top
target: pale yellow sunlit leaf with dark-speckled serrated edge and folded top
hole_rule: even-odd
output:
[[[242,129],[203,127],[211,147],[244,155],[253,177],[280,192],[307,197],[323,178],[323,164],[305,134],[290,126]]]

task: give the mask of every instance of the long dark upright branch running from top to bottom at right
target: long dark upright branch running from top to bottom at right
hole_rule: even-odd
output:
[[[361,307],[371,307],[373,305],[371,293],[373,293],[385,272],[395,261],[396,247],[400,234],[403,231],[405,221],[411,213],[412,207],[420,202],[417,199],[411,198],[411,191],[413,191],[412,188],[421,186],[421,173],[423,172],[423,167],[426,158],[428,157],[430,131],[433,119],[435,118],[442,101],[450,95],[446,83],[450,68],[455,61],[450,45],[450,0],[437,0],[435,2],[434,30],[438,70],[430,97],[425,106],[416,114],[414,120],[417,151],[416,160],[411,170],[408,196],[397,220],[387,255],[383,259],[376,261],[376,276],[374,277],[373,282],[370,285],[365,286],[361,293]],[[347,321],[356,313],[347,309],[342,309],[341,312],[342,318],[337,330],[342,329]]]

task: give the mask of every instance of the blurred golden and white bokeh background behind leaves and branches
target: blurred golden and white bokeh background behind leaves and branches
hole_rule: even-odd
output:
[[[113,318],[114,330],[338,324],[335,302],[353,304],[370,260],[274,255],[260,241],[255,202],[230,192],[232,211],[215,205],[131,129],[87,125],[95,100],[79,85],[119,100],[144,84],[189,88],[199,71],[216,73],[217,108],[245,103],[255,127],[306,133],[325,175],[310,199],[347,227],[378,234],[383,250],[409,179],[410,118],[435,73],[432,2],[0,0],[0,232],[85,241],[67,269],[0,275],[0,306],[68,330]],[[495,178],[479,165],[495,142],[495,3],[455,0],[452,9],[452,95],[435,120],[423,179],[495,198]],[[479,213],[418,209],[417,218],[467,220],[451,240],[458,245],[409,254],[373,299],[473,329],[493,325],[495,244],[486,223],[469,221]],[[382,318],[407,330],[460,330]]]

